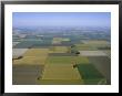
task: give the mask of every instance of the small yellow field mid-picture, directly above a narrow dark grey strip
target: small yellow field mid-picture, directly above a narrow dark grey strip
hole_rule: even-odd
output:
[[[51,46],[49,53],[67,53],[68,51],[67,46]]]

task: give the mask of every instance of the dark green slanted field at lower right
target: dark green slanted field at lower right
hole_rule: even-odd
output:
[[[92,64],[79,64],[78,70],[84,79],[84,84],[99,84],[103,79],[106,83],[103,75]]]

